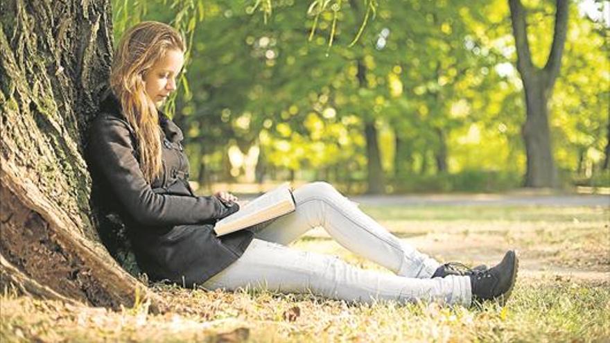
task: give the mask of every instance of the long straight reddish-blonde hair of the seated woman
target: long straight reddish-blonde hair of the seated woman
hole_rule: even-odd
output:
[[[146,94],[143,78],[155,62],[173,49],[185,51],[184,40],[177,30],[158,21],[142,21],[121,38],[110,72],[110,88],[134,129],[140,168],[149,183],[161,173],[162,131],[157,107]]]

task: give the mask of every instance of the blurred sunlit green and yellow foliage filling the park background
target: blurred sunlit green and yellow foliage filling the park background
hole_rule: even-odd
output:
[[[532,58],[546,60],[553,2],[524,5]],[[550,102],[568,185],[610,186],[602,6],[610,8],[570,7]],[[201,184],[326,179],[364,191],[372,123],[387,191],[521,185],[525,105],[505,0],[114,0],[113,15],[115,37],[141,20],[187,37],[185,77],[168,109]]]

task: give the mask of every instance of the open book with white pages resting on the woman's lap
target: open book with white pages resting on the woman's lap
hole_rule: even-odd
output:
[[[288,182],[256,197],[239,211],[216,222],[214,231],[218,236],[230,234],[252,225],[277,218],[295,211],[295,197]]]

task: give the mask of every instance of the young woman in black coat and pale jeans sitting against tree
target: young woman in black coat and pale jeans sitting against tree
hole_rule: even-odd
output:
[[[441,265],[392,236],[325,182],[297,188],[295,212],[217,237],[214,223],[238,211],[238,200],[226,192],[193,193],[182,131],[159,110],[176,89],[184,49],[180,35],[166,24],[147,21],[125,33],[87,148],[103,202],[125,222],[137,262],[150,279],[210,290],[250,286],[313,292],[363,302],[469,306],[473,300],[507,299],[518,266],[514,251],[490,269]],[[287,246],[318,226],[394,274]]]

